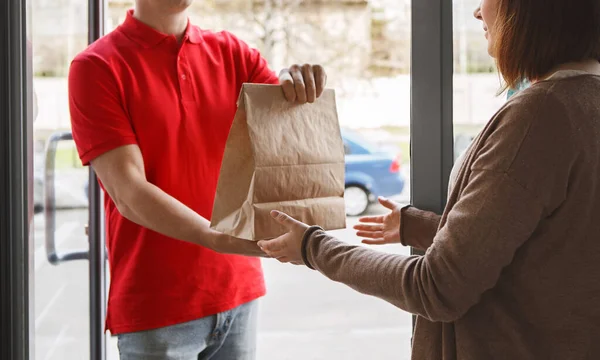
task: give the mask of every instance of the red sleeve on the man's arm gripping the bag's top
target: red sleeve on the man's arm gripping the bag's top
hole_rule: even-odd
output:
[[[228,33],[236,48],[234,54],[239,56],[238,64],[243,67],[243,71],[247,74],[247,79],[244,82],[254,84],[279,84],[279,77],[269,68],[267,60],[262,57],[260,52],[250,47],[244,41],[238,39],[235,35]]]

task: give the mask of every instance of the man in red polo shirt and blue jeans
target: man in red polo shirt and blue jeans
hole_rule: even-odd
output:
[[[225,142],[243,83],[305,103],[326,82],[318,65],[277,77],[234,35],[190,24],[191,2],[136,0],[69,73],[73,138],[107,195],[106,328],[122,360],[255,358],[265,284],[250,256],[264,254],[209,228]]]

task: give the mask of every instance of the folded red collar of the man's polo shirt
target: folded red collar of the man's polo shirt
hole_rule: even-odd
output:
[[[172,35],[163,34],[150,26],[144,24],[133,16],[133,10],[127,11],[127,17],[120,26],[121,31],[128,37],[139,43],[143,47],[150,48],[158,45],[161,41],[172,37]],[[202,36],[197,27],[192,26],[188,19],[188,25],[185,29],[183,42],[198,44],[202,41]]]

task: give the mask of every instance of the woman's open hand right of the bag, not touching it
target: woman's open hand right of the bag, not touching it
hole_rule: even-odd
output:
[[[379,203],[391,212],[386,215],[360,218],[354,226],[356,236],[365,238],[362,242],[369,245],[395,244],[400,242],[400,204],[380,197]]]

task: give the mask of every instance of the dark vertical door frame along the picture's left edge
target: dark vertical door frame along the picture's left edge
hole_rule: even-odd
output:
[[[0,358],[33,357],[33,114],[28,1],[0,2]],[[29,106],[28,106],[29,105]]]

